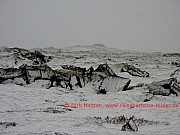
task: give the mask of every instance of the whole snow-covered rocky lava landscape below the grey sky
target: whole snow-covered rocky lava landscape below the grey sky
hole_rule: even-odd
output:
[[[179,135],[179,96],[180,53],[0,50],[2,135]]]

